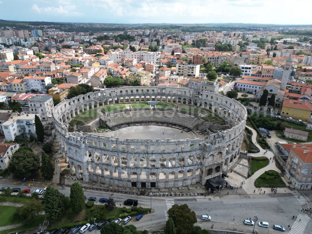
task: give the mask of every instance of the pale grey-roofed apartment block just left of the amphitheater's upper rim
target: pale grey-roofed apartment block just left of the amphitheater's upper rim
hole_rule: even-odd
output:
[[[52,108],[54,107],[52,96],[36,95],[27,100],[27,104],[23,105],[22,112],[27,114],[40,115],[41,121],[52,120]]]

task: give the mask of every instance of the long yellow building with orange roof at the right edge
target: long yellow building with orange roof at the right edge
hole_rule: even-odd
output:
[[[308,101],[286,99],[283,101],[281,114],[284,117],[309,121],[312,104]]]

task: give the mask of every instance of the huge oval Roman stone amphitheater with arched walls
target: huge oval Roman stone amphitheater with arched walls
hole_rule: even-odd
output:
[[[96,116],[73,126],[83,113]],[[236,164],[246,117],[243,105],[219,94],[152,86],[87,93],[53,109],[71,173],[124,188],[205,185]]]

